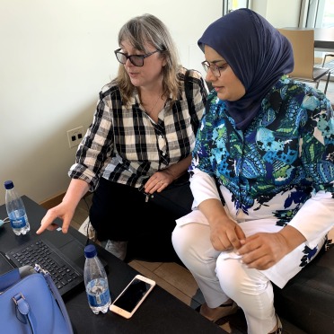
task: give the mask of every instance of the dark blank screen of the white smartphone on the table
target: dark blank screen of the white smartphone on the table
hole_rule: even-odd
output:
[[[150,287],[150,284],[135,278],[127,289],[119,295],[114,305],[131,313]]]

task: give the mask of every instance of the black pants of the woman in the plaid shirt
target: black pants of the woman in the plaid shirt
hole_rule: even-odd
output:
[[[145,195],[134,187],[101,178],[92,196],[90,219],[100,242],[127,242],[126,261],[179,261],[171,244],[175,216],[146,203]]]

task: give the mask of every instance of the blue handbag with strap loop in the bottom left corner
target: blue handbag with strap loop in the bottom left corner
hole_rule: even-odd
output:
[[[1,332],[73,334],[65,303],[40,266],[15,268],[0,276]]]

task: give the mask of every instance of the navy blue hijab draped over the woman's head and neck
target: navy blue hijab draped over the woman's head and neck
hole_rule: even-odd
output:
[[[205,45],[224,57],[245,88],[240,100],[225,101],[236,126],[244,130],[274,84],[293,71],[291,44],[258,13],[242,8],[211,23],[198,40],[203,52]]]

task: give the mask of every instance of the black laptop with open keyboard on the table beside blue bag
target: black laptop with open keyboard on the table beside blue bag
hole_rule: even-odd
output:
[[[1,273],[8,270],[4,268],[20,268],[24,265],[39,264],[41,268],[48,270],[59,293],[65,294],[84,287],[84,246],[71,233],[62,233],[61,228],[56,231],[46,231],[33,238],[28,238],[20,246],[6,251],[1,259]],[[99,257],[101,259],[101,257]],[[101,259],[104,267],[107,262]]]

